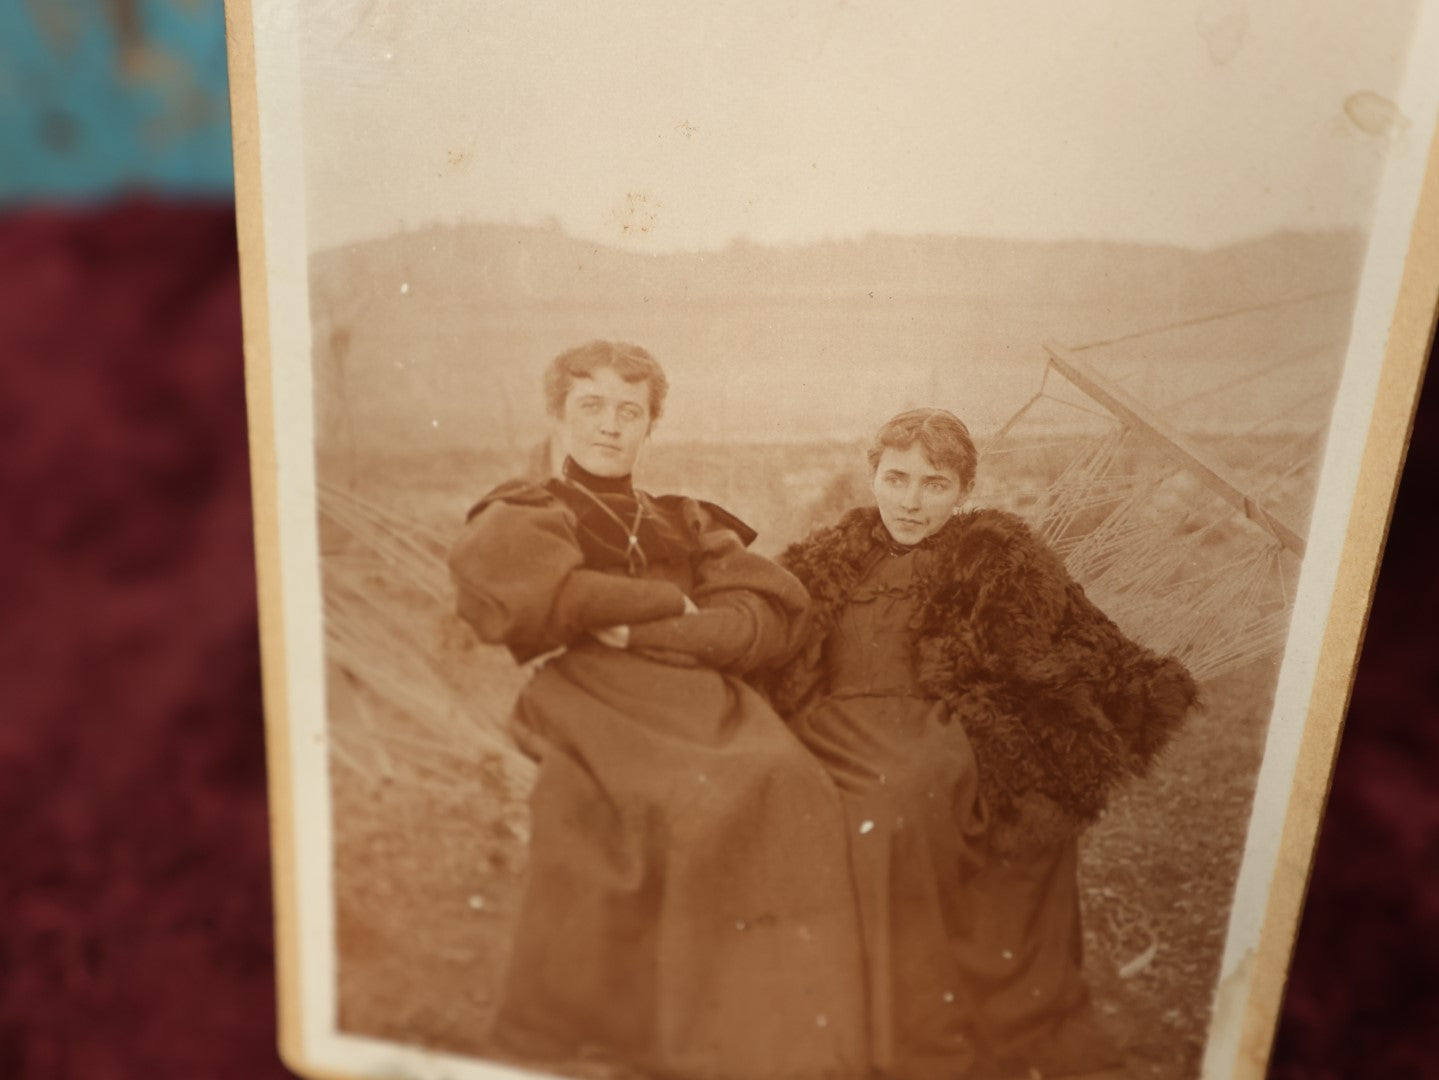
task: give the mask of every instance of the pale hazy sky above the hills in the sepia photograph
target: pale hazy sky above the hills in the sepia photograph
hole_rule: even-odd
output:
[[[314,0],[311,246],[1363,226],[1413,0]]]

